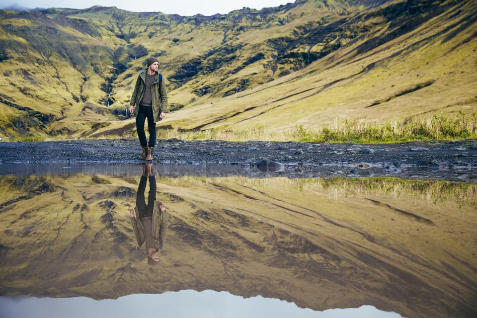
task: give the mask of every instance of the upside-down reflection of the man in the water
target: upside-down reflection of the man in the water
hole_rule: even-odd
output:
[[[149,178],[148,204],[144,197],[146,183]],[[156,201],[156,178],[152,163],[143,164],[143,174],[139,181],[136,207],[129,211],[131,225],[138,241],[138,246],[151,260],[159,262],[159,249],[162,248],[167,234],[167,212],[164,205]],[[138,218],[139,216],[139,218]]]

